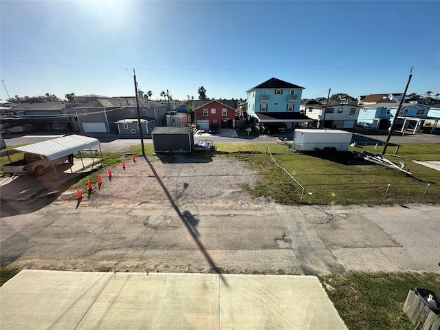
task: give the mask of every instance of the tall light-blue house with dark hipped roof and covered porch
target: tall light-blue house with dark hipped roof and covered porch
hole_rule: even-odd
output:
[[[304,87],[270,78],[246,91],[251,124],[284,123],[288,129],[293,129],[294,124],[311,122],[310,118],[300,113],[303,89]]]

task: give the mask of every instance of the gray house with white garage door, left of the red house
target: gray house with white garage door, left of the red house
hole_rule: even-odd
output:
[[[164,104],[142,98],[139,100],[139,109],[140,118],[146,123],[142,133],[149,134],[155,126],[166,123]],[[134,129],[135,133],[139,133],[137,126],[133,128],[129,125],[129,122],[138,118],[136,98],[133,96],[93,100],[78,105],[75,110],[81,132],[130,134]]]

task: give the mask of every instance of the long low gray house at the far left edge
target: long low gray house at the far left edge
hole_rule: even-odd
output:
[[[14,104],[1,111],[1,124],[32,125],[35,131],[78,131],[74,105],[69,102]]]

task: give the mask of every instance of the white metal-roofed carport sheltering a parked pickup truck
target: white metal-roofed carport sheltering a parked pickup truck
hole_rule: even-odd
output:
[[[34,155],[39,155],[41,158],[46,159],[51,162],[54,159],[61,157],[66,157],[68,155],[78,153],[81,157],[81,164],[83,164],[83,169],[85,168],[82,151],[90,153],[93,158],[92,152],[98,155],[98,148],[92,149],[93,146],[98,146],[99,153],[101,155],[102,163],[102,151],[100,147],[100,141],[94,137],[88,137],[83,135],[68,135],[64,137],[58,137],[53,140],[47,140],[43,142],[37,142],[34,144],[28,144],[27,146],[19,146],[13,148],[12,150],[23,153],[32,153]],[[95,165],[92,163],[91,167]],[[58,179],[58,173],[56,173],[56,166],[53,166],[55,170],[56,178]],[[70,168],[72,172],[72,167]]]

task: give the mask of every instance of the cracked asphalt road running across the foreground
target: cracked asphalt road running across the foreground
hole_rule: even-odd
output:
[[[89,208],[1,219],[1,265],[120,272],[439,272],[440,206]]]

